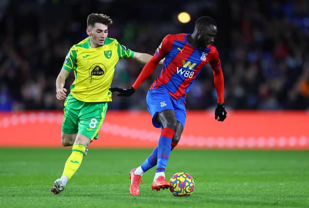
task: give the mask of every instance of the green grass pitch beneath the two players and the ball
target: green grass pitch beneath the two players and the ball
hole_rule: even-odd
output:
[[[58,195],[50,192],[70,149],[0,149],[1,208],[308,208],[309,151],[174,150],[167,166],[190,173],[190,197],[152,191],[155,170],[129,193],[129,170],[151,150],[90,149]]]

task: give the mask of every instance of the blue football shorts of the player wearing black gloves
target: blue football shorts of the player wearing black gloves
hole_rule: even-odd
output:
[[[185,127],[186,122],[186,108],[185,103],[181,99],[174,99],[167,91],[149,90],[146,96],[147,109],[153,118],[153,125],[156,128],[161,128],[162,125],[155,120],[157,113],[164,110],[171,109],[175,112],[176,120]]]

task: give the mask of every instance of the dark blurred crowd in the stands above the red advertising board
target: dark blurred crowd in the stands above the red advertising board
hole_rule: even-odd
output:
[[[178,22],[187,11],[191,21]],[[114,23],[109,37],[153,55],[167,34],[188,33],[200,16],[217,21],[214,45],[222,61],[230,109],[309,110],[308,0],[2,0],[0,2],[0,111],[63,108],[55,80],[70,47],[86,38],[88,14]],[[112,86],[131,86],[143,65],[121,59]],[[110,109],[146,109],[146,92],[160,67],[134,95],[113,95]],[[68,77],[69,89],[74,75]],[[187,109],[216,105],[211,68],[187,95]]]

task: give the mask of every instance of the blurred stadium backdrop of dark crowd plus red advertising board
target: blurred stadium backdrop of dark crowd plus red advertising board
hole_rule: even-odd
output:
[[[178,21],[182,11],[190,22]],[[216,94],[205,68],[187,96],[179,148],[309,149],[307,0],[2,0],[0,146],[60,147],[63,102],[55,97],[55,80],[71,45],[86,37],[92,12],[113,19],[109,37],[149,54],[167,34],[192,33],[196,18],[216,19],[228,118],[213,119]],[[112,86],[132,85],[142,67],[120,60]],[[155,146],[159,131],[145,95],[159,72],[132,97],[113,96],[93,147]]]

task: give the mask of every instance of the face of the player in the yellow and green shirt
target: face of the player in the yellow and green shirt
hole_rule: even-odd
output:
[[[89,27],[86,31],[92,44],[94,44],[92,47],[97,48],[104,45],[105,39],[108,35],[107,25],[102,23],[95,23],[94,27]]]

